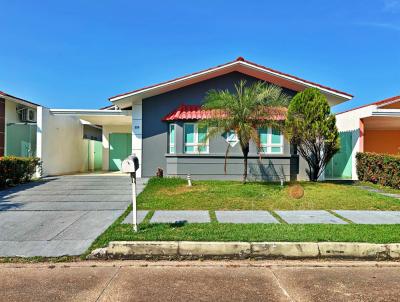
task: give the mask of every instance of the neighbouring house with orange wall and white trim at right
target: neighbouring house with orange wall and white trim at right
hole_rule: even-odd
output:
[[[341,149],[325,176],[357,179],[357,152],[399,154],[400,96],[357,107],[336,115]]]

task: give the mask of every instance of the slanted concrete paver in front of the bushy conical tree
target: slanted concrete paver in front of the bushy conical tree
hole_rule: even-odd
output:
[[[327,211],[275,211],[290,224],[346,224],[347,222]]]

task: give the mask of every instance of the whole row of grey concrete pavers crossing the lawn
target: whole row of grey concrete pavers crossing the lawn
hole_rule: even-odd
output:
[[[141,223],[149,214],[148,210],[138,211]],[[219,223],[280,223],[276,218],[288,224],[400,224],[400,211],[365,211],[365,210],[294,210],[294,211],[215,211]],[[209,223],[209,211],[170,211],[157,210],[150,217],[150,223]],[[123,223],[132,223],[130,213]]]

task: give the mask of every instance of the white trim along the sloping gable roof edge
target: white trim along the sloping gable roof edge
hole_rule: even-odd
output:
[[[141,89],[141,90],[138,90],[138,91],[134,91],[134,92],[131,92],[131,93],[127,93],[127,94],[124,94],[124,95],[121,95],[121,96],[112,97],[112,98],[110,98],[110,101],[111,102],[116,102],[118,100],[130,97],[130,96],[142,94],[142,93],[145,93],[145,92],[148,92],[148,91],[151,91],[151,90],[155,90],[155,89],[159,89],[159,88],[163,88],[163,87],[168,87],[168,86],[171,86],[171,85],[174,85],[174,84],[177,84],[177,83],[181,83],[181,82],[184,82],[184,81],[196,78],[196,77],[201,77],[201,76],[207,75],[209,73],[213,73],[215,71],[218,71],[218,70],[221,70],[221,69],[226,69],[226,68],[229,68],[229,67],[232,67],[232,66],[236,66],[236,65],[243,65],[243,66],[248,67],[248,68],[257,69],[257,70],[259,70],[261,72],[264,72],[266,74],[271,74],[271,75],[274,75],[276,77],[283,78],[283,79],[286,79],[286,80],[289,80],[289,81],[292,81],[292,82],[295,82],[295,83],[300,83],[300,84],[302,84],[304,86],[307,86],[307,87],[314,87],[314,88],[322,90],[322,91],[324,91],[326,93],[329,93],[329,94],[332,94],[332,95],[335,95],[335,96],[339,96],[339,97],[345,98],[347,100],[351,100],[353,98],[352,96],[345,95],[345,94],[342,94],[342,93],[339,93],[339,92],[335,92],[335,91],[329,90],[327,88],[320,87],[318,85],[310,84],[308,82],[305,82],[305,81],[302,81],[300,79],[291,77],[289,75],[283,75],[283,74],[280,74],[278,72],[273,72],[271,70],[264,69],[262,67],[259,67],[259,66],[247,63],[247,62],[235,61],[235,62],[226,64],[226,65],[223,65],[223,66],[215,67],[215,68],[212,68],[212,69],[209,69],[209,70],[205,70],[205,71],[202,71],[202,72],[199,72],[199,73],[196,73],[196,74],[188,75],[188,76],[176,79],[176,80],[168,81],[166,83],[161,83],[161,84],[158,84],[158,85],[154,85],[154,86],[149,87],[149,88],[144,88],[144,89]]]

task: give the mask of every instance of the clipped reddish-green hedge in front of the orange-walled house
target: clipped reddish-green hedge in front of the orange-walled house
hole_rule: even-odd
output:
[[[400,156],[378,153],[357,153],[359,180],[400,189]]]

